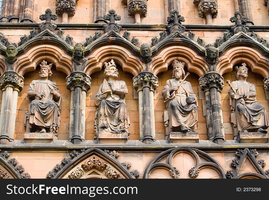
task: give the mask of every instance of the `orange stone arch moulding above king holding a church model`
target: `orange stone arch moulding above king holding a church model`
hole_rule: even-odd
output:
[[[140,71],[143,71],[139,58],[132,55],[128,49],[117,45],[102,46],[92,52],[88,56],[88,63],[84,71],[87,75],[101,71],[104,62],[108,62],[111,59],[119,63],[123,71],[130,72],[134,76],[138,75]]]

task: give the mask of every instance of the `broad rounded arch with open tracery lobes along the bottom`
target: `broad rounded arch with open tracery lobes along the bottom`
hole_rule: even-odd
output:
[[[212,156],[201,150],[187,147],[168,149],[157,155],[146,167],[143,178],[150,178],[151,172],[158,168],[166,169],[172,178],[180,178],[180,169],[177,169],[172,164],[174,162],[173,159],[179,153],[187,153],[194,160],[195,166],[189,169],[189,176],[191,178],[197,178],[200,169],[205,168],[215,170],[220,178],[226,178],[222,167],[214,158],[212,158]],[[203,158],[205,161],[202,161],[201,158]],[[164,160],[166,161],[164,162]]]

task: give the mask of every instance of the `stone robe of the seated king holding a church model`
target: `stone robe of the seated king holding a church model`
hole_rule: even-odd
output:
[[[94,120],[96,136],[99,133],[122,133],[122,129],[125,129],[128,133],[130,120],[125,104],[125,94],[128,93],[126,83],[124,81],[110,83],[118,90],[117,93],[112,93],[112,96],[111,93],[107,93],[106,99],[100,100],[98,97],[102,93],[103,84],[101,84],[96,95],[95,104],[98,106]],[[108,127],[100,128],[104,124]]]

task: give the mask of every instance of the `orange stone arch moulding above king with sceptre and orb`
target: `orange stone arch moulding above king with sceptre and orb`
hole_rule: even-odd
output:
[[[149,71],[152,71],[154,75],[167,71],[169,64],[174,60],[184,62],[188,71],[194,72],[200,77],[207,72],[204,58],[198,56],[192,49],[184,46],[171,46],[165,48],[157,56],[153,57],[152,60],[153,61],[149,66]]]

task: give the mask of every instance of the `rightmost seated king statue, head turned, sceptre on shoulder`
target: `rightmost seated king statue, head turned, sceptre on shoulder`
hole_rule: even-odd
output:
[[[238,136],[239,132],[267,133],[267,113],[265,107],[257,103],[255,85],[246,81],[248,77],[246,64],[236,67],[236,70],[237,81],[231,82],[229,90],[232,111],[230,122],[235,128],[234,135]]]

